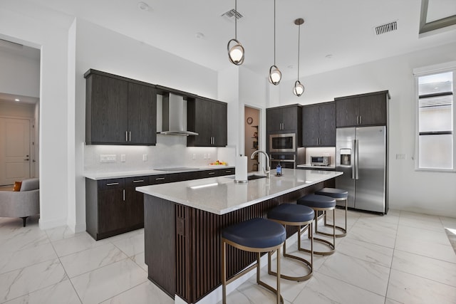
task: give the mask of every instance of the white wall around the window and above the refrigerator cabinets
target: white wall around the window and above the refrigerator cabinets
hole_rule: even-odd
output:
[[[299,103],[321,103],[333,98],[389,90],[389,202],[390,208],[456,216],[456,174],[417,172],[415,154],[415,88],[413,68],[455,61],[456,43],[305,77],[306,92]],[[296,103],[281,83],[280,104]],[[395,159],[396,154],[407,159]]]

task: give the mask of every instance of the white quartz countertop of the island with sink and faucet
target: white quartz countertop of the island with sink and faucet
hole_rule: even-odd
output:
[[[227,214],[343,174],[285,168],[282,172],[281,177],[271,174],[270,179],[252,179],[245,184],[235,183],[232,175],[137,187],[136,191],[213,214]]]

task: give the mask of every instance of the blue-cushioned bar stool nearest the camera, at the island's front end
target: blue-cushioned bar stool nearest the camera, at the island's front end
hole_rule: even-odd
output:
[[[239,224],[234,224],[222,231],[222,303],[227,303],[227,284],[236,280],[240,276],[257,268],[257,283],[276,294],[277,304],[283,303],[284,299],[280,295],[280,247],[286,239],[284,226],[268,219],[249,219]],[[257,252],[257,264],[237,273],[236,276],[227,280],[227,244],[243,251]],[[277,287],[260,280],[260,253],[277,251]]]

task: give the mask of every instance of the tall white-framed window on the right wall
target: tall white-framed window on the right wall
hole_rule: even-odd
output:
[[[455,171],[455,67],[416,73],[417,169]]]

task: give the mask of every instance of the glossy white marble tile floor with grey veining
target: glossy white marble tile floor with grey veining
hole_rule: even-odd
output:
[[[343,210],[336,210],[336,221],[343,226]],[[309,281],[281,281],[286,304],[456,303],[456,254],[445,232],[455,231],[456,219],[348,211],[347,228],[336,253],[315,256]],[[143,234],[94,241],[66,227],[41,231],[36,217],[25,228],[21,219],[0,218],[0,303],[174,303],[147,280]],[[289,243],[293,253],[296,243]],[[281,261],[284,273],[301,275],[297,262]],[[261,278],[275,284],[266,265]],[[274,295],[252,276],[227,303],[274,303]]]

